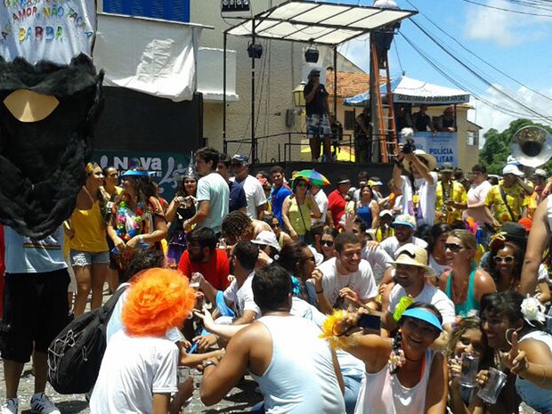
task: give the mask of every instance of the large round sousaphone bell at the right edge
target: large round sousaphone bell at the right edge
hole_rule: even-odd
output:
[[[552,158],[552,135],[540,126],[524,126],[512,137],[510,150],[520,164],[542,166]]]

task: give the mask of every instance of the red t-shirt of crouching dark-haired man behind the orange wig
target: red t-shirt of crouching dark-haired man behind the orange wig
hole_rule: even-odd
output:
[[[218,248],[215,248],[215,252],[205,263],[191,262],[188,250],[184,251],[178,263],[178,270],[183,272],[188,279],[191,278],[191,273],[193,272],[201,273],[205,280],[217,290],[224,290],[230,285],[228,281],[228,275],[230,274],[228,256],[226,256],[223,250]]]

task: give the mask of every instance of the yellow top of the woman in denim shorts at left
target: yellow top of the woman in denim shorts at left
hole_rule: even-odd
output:
[[[99,253],[107,252],[108,241],[100,212],[100,201],[93,203],[90,210],[75,209],[71,215],[71,226],[75,237],[70,240],[71,250]]]

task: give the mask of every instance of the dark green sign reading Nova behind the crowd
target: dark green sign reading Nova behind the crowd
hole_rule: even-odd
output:
[[[120,173],[128,169],[131,159],[139,160],[140,165],[150,172],[153,180],[158,183],[159,196],[170,202],[181,183],[183,173],[188,167],[190,155],[178,152],[94,150],[92,159],[101,168],[115,166]]]

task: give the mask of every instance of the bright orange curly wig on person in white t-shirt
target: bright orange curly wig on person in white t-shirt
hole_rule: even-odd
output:
[[[128,289],[121,321],[133,337],[163,337],[181,327],[196,302],[188,278],[170,269],[142,272]]]

